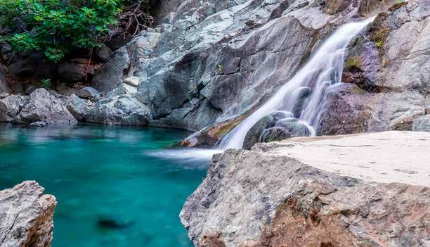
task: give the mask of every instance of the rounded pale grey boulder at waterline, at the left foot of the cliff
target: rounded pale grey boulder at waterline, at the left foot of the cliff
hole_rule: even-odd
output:
[[[100,100],[86,116],[87,122],[107,125],[148,125],[150,120],[150,109],[129,95]]]

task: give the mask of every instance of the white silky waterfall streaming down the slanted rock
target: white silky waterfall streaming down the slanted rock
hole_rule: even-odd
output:
[[[327,94],[336,84],[341,83],[347,46],[373,19],[339,27],[289,82],[221,140],[219,148],[242,148],[247,132],[256,122],[279,111],[282,117],[277,125],[282,125],[282,121],[292,118],[297,104],[301,104],[301,112],[297,116],[299,123],[306,126],[309,135],[315,135],[315,129],[320,124],[327,105]],[[306,101],[303,102],[306,92]]]

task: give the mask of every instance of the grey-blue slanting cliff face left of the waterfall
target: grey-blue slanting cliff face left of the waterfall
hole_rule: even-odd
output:
[[[199,130],[258,106],[335,27],[381,7],[382,1],[169,1],[159,27],[117,51],[96,84],[112,89],[138,77],[135,96],[150,107],[150,124]]]

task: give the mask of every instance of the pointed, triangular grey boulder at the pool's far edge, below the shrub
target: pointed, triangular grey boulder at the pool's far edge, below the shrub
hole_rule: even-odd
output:
[[[60,99],[45,89],[36,89],[25,102],[17,122],[46,122],[48,125],[76,125],[77,120],[69,113]]]

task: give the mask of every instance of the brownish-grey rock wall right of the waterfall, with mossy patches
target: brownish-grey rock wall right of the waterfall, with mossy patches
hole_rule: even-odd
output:
[[[322,134],[429,129],[430,1],[381,13],[349,49]],[[422,122],[426,122],[424,125]]]

